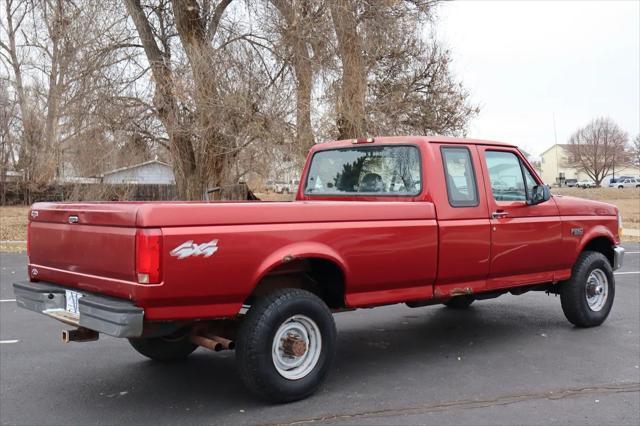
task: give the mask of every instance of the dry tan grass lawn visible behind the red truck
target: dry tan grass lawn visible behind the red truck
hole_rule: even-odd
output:
[[[625,228],[640,229],[640,190],[635,188],[555,188],[554,194],[571,195],[590,200],[605,201],[618,206],[622,212]],[[289,201],[293,194],[256,194],[265,201]],[[24,241],[27,239],[27,214],[29,207],[0,207],[0,241]],[[625,236],[625,241],[637,238]],[[0,251],[25,251],[24,243],[0,242]]]

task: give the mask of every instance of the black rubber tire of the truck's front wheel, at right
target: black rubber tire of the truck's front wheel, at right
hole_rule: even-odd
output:
[[[597,277],[601,271],[606,277],[606,296],[601,306],[594,308],[587,301],[587,293],[590,292],[592,298],[599,298],[595,294],[594,287]],[[592,275],[593,274],[593,275]],[[590,277],[595,277],[595,282],[588,283]],[[588,289],[589,287],[589,289]],[[584,251],[578,257],[571,278],[561,284],[560,302],[562,311],[570,323],[577,327],[595,327],[602,324],[611,312],[613,299],[615,296],[615,280],[613,270],[609,260],[600,252]],[[604,290],[603,290],[604,291]]]

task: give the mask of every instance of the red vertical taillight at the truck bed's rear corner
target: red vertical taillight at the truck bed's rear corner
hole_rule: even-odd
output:
[[[158,284],[162,275],[162,231],[136,232],[136,277],[140,284]]]

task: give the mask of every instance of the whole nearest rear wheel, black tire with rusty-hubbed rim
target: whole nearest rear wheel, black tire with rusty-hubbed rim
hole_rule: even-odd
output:
[[[336,327],[327,305],[300,289],[282,289],[258,300],[238,330],[236,362],[244,384],[272,402],[314,393],[335,353]]]

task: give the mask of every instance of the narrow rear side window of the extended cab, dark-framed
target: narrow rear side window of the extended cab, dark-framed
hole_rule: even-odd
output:
[[[477,206],[478,188],[469,149],[442,147],[441,152],[449,204],[452,207]]]

